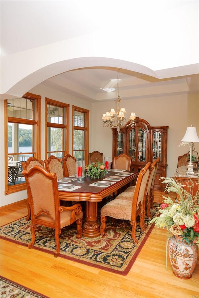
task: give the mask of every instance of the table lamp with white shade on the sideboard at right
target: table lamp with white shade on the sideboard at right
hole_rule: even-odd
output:
[[[186,133],[181,140],[182,142],[188,142],[190,146],[190,153],[189,153],[189,163],[188,163],[188,170],[187,174],[194,174],[193,171],[193,164],[192,164],[192,150],[193,150],[193,143],[199,142],[199,138],[197,136],[197,131],[195,127],[187,127]]]

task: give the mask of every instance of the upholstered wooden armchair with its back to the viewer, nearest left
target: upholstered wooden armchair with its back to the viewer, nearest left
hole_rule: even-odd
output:
[[[58,257],[60,251],[59,235],[61,229],[76,222],[76,238],[82,235],[81,204],[76,203],[70,207],[60,206],[58,183],[56,173],[49,173],[41,166],[35,165],[29,170],[23,170],[28,197],[31,208],[31,242],[28,248],[35,243],[35,230],[38,225],[55,230],[56,250],[54,256]]]

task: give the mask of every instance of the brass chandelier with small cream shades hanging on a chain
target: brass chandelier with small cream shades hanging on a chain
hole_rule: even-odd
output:
[[[119,96],[119,68],[118,68],[117,87],[118,87],[117,113],[115,113],[114,109],[111,109],[110,112],[106,112],[103,114],[102,119],[104,122],[103,127],[106,127],[106,126],[115,127],[115,128],[117,128],[117,131],[119,133],[121,127],[127,127],[127,126],[131,125],[131,127],[133,128],[136,126],[136,123],[134,122],[134,120],[136,119],[136,114],[134,112],[131,112],[131,115],[129,118],[129,120],[131,120],[131,122],[129,124],[127,124],[127,120],[124,115],[126,113],[126,110],[125,110],[125,108],[120,109],[120,107],[119,107],[119,103],[121,100],[121,98]],[[116,116],[114,116],[115,114],[116,114]]]

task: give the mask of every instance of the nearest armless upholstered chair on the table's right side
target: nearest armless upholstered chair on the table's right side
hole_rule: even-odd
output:
[[[101,208],[100,211],[100,234],[104,236],[107,216],[112,217],[112,224],[116,223],[116,219],[128,220],[132,225],[132,240],[138,243],[135,232],[137,227],[137,216],[140,216],[140,228],[142,231],[146,230],[145,218],[145,195],[146,183],[148,181],[149,173],[151,170],[151,162],[140,170],[137,177],[136,187],[134,193],[130,193],[132,200],[125,200],[120,198],[119,194],[113,201],[110,201]],[[126,192],[126,194],[129,194]],[[120,225],[124,226],[123,223]]]

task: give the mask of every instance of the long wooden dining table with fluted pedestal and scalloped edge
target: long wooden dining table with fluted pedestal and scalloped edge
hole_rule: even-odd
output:
[[[125,172],[129,172],[126,171]],[[130,173],[130,172],[129,172]],[[109,176],[115,176],[119,174],[119,172],[109,172],[105,176],[100,179],[90,179],[90,177],[82,178],[83,182],[79,183],[77,180],[69,182],[75,186],[81,186],[78,189],[72,191],[62,191],[59,190],[59,198],[62,201],[86,201],[86,212],[85,212],[85,221],[82,228],[82,235],[84,237],[98,237],[99,236],[99,224],[97,219],[97,202],[100,202],[106,196],[116,193],[121,187],[129,184],[133,180],[137,180],[137,176],[139,173],[131,173],[129,176],[122,176],[120,180],[109,180],[110,182],[114,182],[110,186],[107,187],[99,187],[99,186],[90,186],[90,184],[95,183],[97,181],[108,181],[104,180]],[[118,175],[116,175],[118,176]]]

